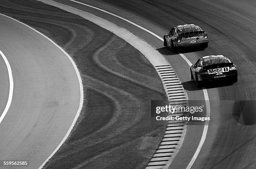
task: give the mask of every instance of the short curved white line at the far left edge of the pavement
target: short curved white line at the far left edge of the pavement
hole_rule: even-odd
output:
[[[7,111],[9,110],[10,104],[11,104],[12,99],[13,99],[13,73],[12,73],[12,69],[10,68],[10,64],[9,64],[7,58],[5,57],[5,55],[3,54],[3,52],[1,50],[0,50],[0,54],[3,57],[3,59],[5,61],[5,64],[7,66],[8,74],[9,74],[9,81],[10,81],[8,101],[7,101],[7,104],[5,106],[5,109],[2,113],[2,115],[0,116],[0,123],[1,123],[3,121],[3,118],[5,117],[5,115],[7,114]]]

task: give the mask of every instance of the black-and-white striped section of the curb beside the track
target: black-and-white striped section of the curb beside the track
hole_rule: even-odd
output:
[[[169,100],[169,105],[187,106],[187,93],[169,63],[167,62],[166,65],[158,65],[154,67],[163,83],[164,90]],[[169,116],[177,115],[183,116],[184,113],[174,112],[173,114],[169,114]],[[186,122],[168,121],[164,137],[146,166],[146,169],[167,169],[182,146],[186,131]]]

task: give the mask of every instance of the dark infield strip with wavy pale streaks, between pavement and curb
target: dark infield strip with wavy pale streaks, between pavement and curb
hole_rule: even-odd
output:
[[[84,106],[69,139],[46,168],[143,168],[164,134],[152,126],[150,100],[167,100],[144,56],[107,30],[32,0],[5,0],[1,13],[47,35],[72,56]]]

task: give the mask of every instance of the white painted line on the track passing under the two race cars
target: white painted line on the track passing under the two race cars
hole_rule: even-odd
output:
[[[136,27],[138,27],[138,28],[141,28],[142,30],[145,30],[146,32],[150,33],[151,35],[155,36],[156,38],[159,38],[160,40],[164,41],[163,38],[161,38],[160,36],[158,36],[158,35],[156,35],[155,33],[151,32],[150,30],[147,30],[146,28],[143,28],[142,26],[137,25],[136,23],[133,23],[133,22],[131,22],[130,20],[127,20],[127,19],[125,19],[125,18],[123,18],[123,17],[120,17],[120,16],[118,16],[118,15],[115,15],[115,14],[113,14],[113,13],[110,13],[110,12],[108,12],[108,11],[106,11],[106,10],[102,10],[102,9],[100,9],[100,8],[94,7],[94,6],[92,6],[92,5],[88,5],[88,4],[85,4],[85,3],[78,2],[78,1],[76,1],[76,0],[69,0],[69,1],[72,1],[72,2],[74,2],[74,3],[79,3],[79,4],[81,4],[81,5],[85,5],[85,6],[88,6],[88,7],[97,9],[97,10],[100,10],[100,11],[102,11],[102,12],[104,12],[104,13],[108,13],[108,14],[110,14],[110,15],[113,15],[113,16],[117,17],[117,18],[120,18],[120,19],[122,19],[122,20],[125,20],[126,22],[131,23],[132,25],[134,25],[134,26],[136,26]],[[192,65],[192,63],[188,60],[188,58],[187,58],[185,55],[183,55],[182,53],[179,53],[179,55],[182,56],[182,58],[188,63],[189,66]],[[209,97],[208,97],[208,93],[207,93],[206,88],[203,88],[203,92],[204,92],[204,98],[205,98],[205,103],[206,103],[206,112],[207,112],[206,114],[207,114],[207,117],[210,117],[210,102],[209,102]],[[198,145],[198,147],[197,147],[197,150],[195,151],[195,154],[194,154],[194,156],[192,157],[192,159],[191,159],[191,161],[189,162],[189,164],[188,164],[188,166],[187,166],[186,169],[190,169],[190,168],[192,167],[192,165],[194,164],[195,160],[197,159],[197,156],[198,156],[198,154],[199,154],[199,152],[200,152],[200,150],[201,150],[201,148],[202,148],[202,145],[203,145],[204,142],[205,142],[207,130],[208,130],[208,121],[205,122],[205,126],[204,126],[204,130],[203,130],[203,133],[202,133],[202,137],[201,137],[200,143],[199,143],[199,145]]]

